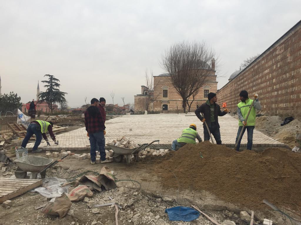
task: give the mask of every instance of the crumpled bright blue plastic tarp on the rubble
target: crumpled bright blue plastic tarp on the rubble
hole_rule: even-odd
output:
[[[172,208],[166,208],[169,220],[182,220],[189,222],[197,219],[200,216],[200,212],[190,207],[176,206]]]

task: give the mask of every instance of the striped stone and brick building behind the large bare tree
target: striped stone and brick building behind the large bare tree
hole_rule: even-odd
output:
[[[206,70],[208,70],[208,81],[203,85],[195,96],[195,99],[191,105],[191,111],[194,111],[197,106],[203,104],[208,100],[207,95],[209,92],[216,92],[217,81],[215,74],[215,62],[211,63],[211,67],[207,64]],[[203,69],[200,69],[203,70]],[[183,100],[178,94],[176,89],[170,82],[170,76],[168,73],[163,73],[158,76],[154,76],[154,91],[149,92],[146,86],[141,86],[141,94],[135,95],[135,111],[160,111],[162,113],[183,111]],[[190,97],[189,103],[192,101]],[[147,107],[148,106],[148,107]],[[188,110],[188,106],[187,106]]]

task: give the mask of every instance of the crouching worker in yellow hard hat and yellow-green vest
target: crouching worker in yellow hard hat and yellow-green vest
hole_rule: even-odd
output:
[[[189,128],[183,130],[180,138],[172,142],[171,150],[176,151],[177,146],[181,148],[187,143],[195,144],[195,139],[197,139],[199,142],[202,141],[200,135],[197,133],[197,125],[191,124]]]

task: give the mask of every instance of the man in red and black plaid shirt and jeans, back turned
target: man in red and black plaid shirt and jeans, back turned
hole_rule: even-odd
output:
[[[94,165],[96,161],[96,146],[99,146],[101,163],[110,163],[111,161],[106,160],[105,138],[104,138],[104,120],[98,109],[98,99],[92,98],[91,106],[85,111],[85,127],[87,136],[90,141],[90,155],[91,164]]]

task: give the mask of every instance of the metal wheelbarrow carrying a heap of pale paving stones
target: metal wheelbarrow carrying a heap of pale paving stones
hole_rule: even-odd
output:
[[[159,142],[159,140],[155,140],[155,141],[151,142],[150,144],[145,143],[145,144],[139,145],[138,147],[136,147],[134,149],[126,149],[123,147],[118,147],[118,146],[108,145],[108,144],[107,144],[107,146],[109,146],[113,150],[114,162],[120,163],[123,161],[123,158],[125,158],[126,164],[129,165],[131,155],[134,155],[134,157],[136,158],[136,162],[138,162],[138,153],[141,152],[143,149],[146,149],[148,146],[150,146],[154,142]]]

